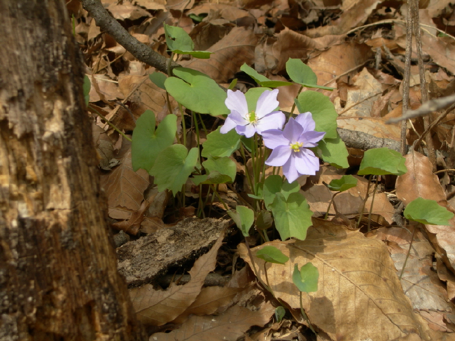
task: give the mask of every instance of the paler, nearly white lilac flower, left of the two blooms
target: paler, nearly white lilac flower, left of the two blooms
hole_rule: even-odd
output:
[[[265,130],[281,129],[286,116],[280,111],[274,111],[279,104],[277,95],[278,89],[264,91],[257,99],[256,110],[248,112],[245,95],[240,91],[228,90],[224,103],[231,114],[227,116],[220,133],[225,134],[235,128],[238,134],[251,137]]]

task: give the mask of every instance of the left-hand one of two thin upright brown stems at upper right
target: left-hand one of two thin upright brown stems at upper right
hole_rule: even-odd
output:
[[[409,79],[411,77],[411,54],[412,54],[412,28],[413,16],[410,2],[408,0],[408,18],[406,22],[406,53],[404,61],[404,78],[403,78],[403,109],[402,114],[406,114],[409,104]],[[406,121],[401,122],[401,155],[406,154]]]

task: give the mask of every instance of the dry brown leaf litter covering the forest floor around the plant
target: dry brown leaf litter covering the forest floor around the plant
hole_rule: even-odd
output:
[[[446,0],[420,2],[430,98],[450,95],[455,86],[454,5]],[[178,63],[226,87],[234,78],[238,78],[237,88],[243,91],[254,84],[240,72],[244,63],[269,79],[288,81],[286,61],[289,57],[300,58],[315,71],[318,85],[336,88],[321,92],[329,95],[335,105],[338,127],[399,141],[398,126],[386,125],[385,121],[399,116],[402,108],[407,13],[402,2],[224,0],[189,1],[185,5],[109,0],[103,4],[131,34],[166,57],[162,22],[183,27],[197,50],[214,54],[209,59],[186,58]],[[168,108],[165,91],[148,77],[155,69],[135,60],[101,32],[77,1],[69,1],[68,9],[74,14],[76,40],[92,85],[91,106],[127,136],[145,110],[156,114],[158,124]],[[416,58],[414,52],[412,57]],[[411,109],[417,109],[420,80],[415,65],[411,73],[410,104]],[[280,88],[278,100],[283,110],[291,110],[293,102],[289,98],[297,91],[298,87]],[[288,92],[292,94],[286,95]],[[172,98],[171,107],[180,126],[182,117]],[[189,225],[188,220],[181,221],[194,215],[194,210],[183,213],[169,205],[169,193],[158,192],[146,172],[132,170],[128,141],[95,112],[90,114],[98,131],[94,139],[99,146],[108,214],[113,227],[133,237],[118,249],[119,270],[130,285],[138,318],[156,326],[150,329],[154,332],[150,340],[316,340],[300,315],[299,296],[291,278],[294,263],[301,266],[310,260],[321,277],[318,290],[305,294],[302,305],[317,328],[318,340],[455,339],[454,219],[449,226],[403,226],[398,210],[402,209],[400,201],[406,205],[420,196],[454,211],[453,110],[432,135],[439,153],[436,169],[441,172],[435,174],[422,153],[406,155],[408,173],[397,179],[383,177],[372,206],[376,225],[370,232],[355,227],[362,206],[368,211],[371,205],[371,198],[364,204],[364,178],[358,177],[356,187],[336,196],[329,210],[332,222],[317,219],[325,214],[333,195],[324,183],[342,174],[325,165],[319,175],[299,180],[300,192],[315,212],[313,227],[308,229],[305,241],[269,243],[292,260],[288,265],[265,265],[276,298],[260,290],[261,284],[255,281],[248,265],[239,269],[243,266],[241,259],[252,265],[239,232],[223,220],[198,222],[192,218]],[[430,118],[435,120],[438,115],[430,114]],[[222,118],[206,116],[207,129],[215,130]],[[407,124],[407,143],[412,144],[423,131],[420,118],[411,120]],[[199,143],[203,143],[206,135],[200,133]],[[196,140],[192,143],[191,147],[196,147]],[[349,151],[350,171],[355,174],[362,151]],[[237,177],[245,179],[245,165],[235,158],[233,161]],[[248,189],[247,181],[244,184]],[[186,189],[187,202],[200,197],[212,204],[207,214],[218,219],[226,217],[224,209],[217,208],[223,207],[216,198],[198,192],[192,184]],[[228,187],[220,192],[231,208],[248,201],[246,196],[236,197]],[[234,251],[237,247],[238,254]],[[252,248],[253,254],[261,247]],[[403,270],[408,249],[411,251]],[[255,257],[254,262],[260,281],[265,283],[264,261]],[[206,275],[213,271],[230,280],[227,284],[204,286]],[[156,279],[166,273],[174,275],[175,283],[159,288]],[[191,275],[191,280],[179,285],[178,278],[185,273]],[[278,323],[273,315],[279,304],[290,314]]]

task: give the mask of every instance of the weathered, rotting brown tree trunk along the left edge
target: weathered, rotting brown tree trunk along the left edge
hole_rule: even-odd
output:
[[[65,0],[0,0],[0,340],[141,340]]]

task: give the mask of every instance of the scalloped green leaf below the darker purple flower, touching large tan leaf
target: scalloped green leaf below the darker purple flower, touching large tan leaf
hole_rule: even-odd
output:
[[[306,231],[313,224],[313,212],[301,193],[291,193],[287,200],[283,193],[277,193],[270,206],[281,240],[291,237],[305,240]]]

